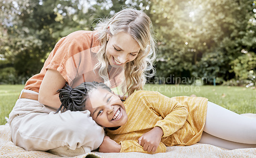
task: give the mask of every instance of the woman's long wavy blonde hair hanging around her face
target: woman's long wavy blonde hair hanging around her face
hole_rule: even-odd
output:
[[[108,76],[108,59],[106,58],[107,34],[116,35],[119,32],[129,33],[139,44],[140,51],[135,60],[125,63],[125,81],[122,84],[122,92],[131,95],[136,90],[142,89],[146,83],[146,77],[155,75],[153,63],[156,59],[156,42],[152,31],[152,22],[143,11],[126,8],[112,17],[102,19],[95,27],[98,40],[101,44],[97,52],[99,62],[95,68],[99,68],[99,76],[104,83],[110,86]]]

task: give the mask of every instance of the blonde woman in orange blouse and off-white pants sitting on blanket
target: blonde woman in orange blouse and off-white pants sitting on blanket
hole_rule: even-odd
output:
[[[151,20],[142,11],[123,9],[101,20],[95,31],[76,31],[61,38],[39,74],[25,85],[9,115],[11,139],[26,150],[67,146],[81,153],[100,146],[104,130],[90,112],[66,111],[58,89],[98,81],[131,95],[154,74],[155,42]],[[149,74],[148,72],[153,72]]]

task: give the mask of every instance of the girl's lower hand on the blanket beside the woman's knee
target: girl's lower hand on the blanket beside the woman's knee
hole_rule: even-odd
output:
[[[99,152],[120,152],[121,145],[105,136],[103,142],[99,146]]]

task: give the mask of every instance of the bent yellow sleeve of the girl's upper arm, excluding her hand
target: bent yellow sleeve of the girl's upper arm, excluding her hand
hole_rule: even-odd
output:
[[[179,103],[179,98],[169,98],[152,91],[137,91],[133,95],[139,95],[140,104],[145,104],[161,118],[154,123],[154,127],[163,130],[162,138],[172,135],[185,124],[188,116],[187,105]]]

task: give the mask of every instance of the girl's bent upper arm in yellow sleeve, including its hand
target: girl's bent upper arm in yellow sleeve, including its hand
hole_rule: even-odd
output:
[[[185,105],[180,104],[174,98],[168,98],[157,92],[146,92],[143,97],[147,102],[146,105],[163,118],[152,130],[138,139],[144,151],[155,152],[162,137],[173,134],[184,125],[188,111]]]

